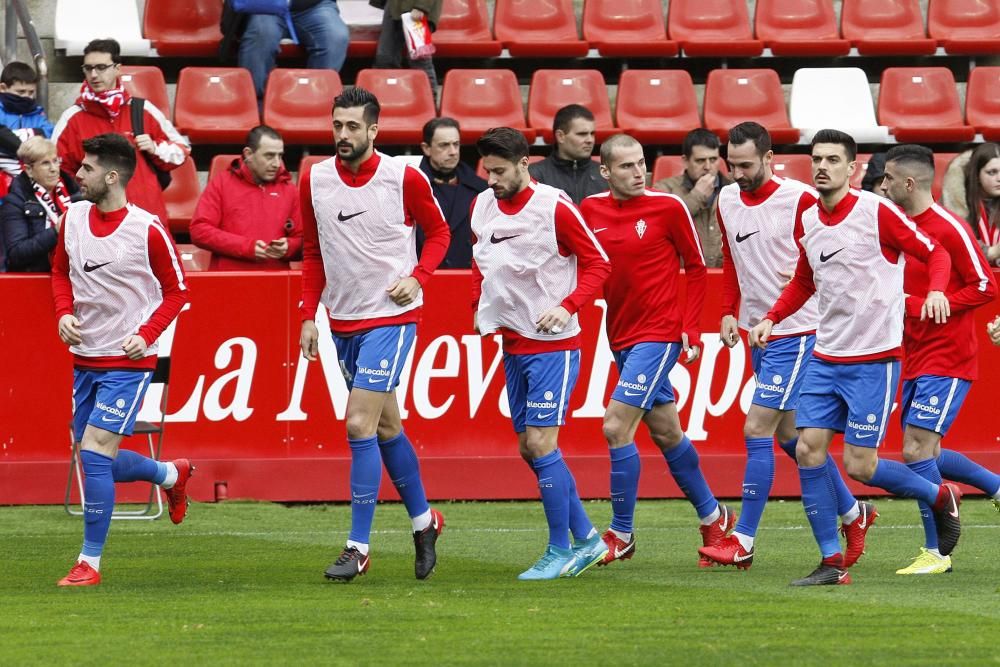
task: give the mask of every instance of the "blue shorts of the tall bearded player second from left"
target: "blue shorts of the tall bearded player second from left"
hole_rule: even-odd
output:
[[[390,392],[399,385],[406,357],[413,346],[416,324],[378,327],[356,336],[333,335],[340,372],[347,389]]]

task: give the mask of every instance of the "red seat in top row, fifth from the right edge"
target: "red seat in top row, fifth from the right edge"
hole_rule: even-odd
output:
[[[677,43],[667,40],[660,0],[587,0],[583,38],[602,56],[677,55]]]

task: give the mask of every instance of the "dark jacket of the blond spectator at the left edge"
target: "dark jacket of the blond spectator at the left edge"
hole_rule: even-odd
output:
[[[66,172],[62,172],[62,180],[70,196],[80,190]],[[55,249],[59,234],[55,227],[46,229],[45,221],[45,207],[35,197],[28,174],[21,173],[11,182],[10,192],[0,209],[7,271],[48,273],[52,270],[49,253]]]

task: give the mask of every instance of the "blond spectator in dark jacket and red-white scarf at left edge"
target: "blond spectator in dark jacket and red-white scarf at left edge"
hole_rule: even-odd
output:
[[[11,183],[0,209],[7,270],[48,273],[62,215],[79,188],[71,174],[60,171],[56,145],[48,139],[31,137],[17,157],[24,171]]]

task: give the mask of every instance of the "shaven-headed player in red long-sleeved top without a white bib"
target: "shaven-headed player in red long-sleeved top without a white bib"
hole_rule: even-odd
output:
[[[698,318],[708,272],[691,214],[680,197],[646,189],[642,146],[628,135],[615,135],[601,146],[601,175],[610,190],[584,199],[580,211],[611,260],[604,298],[619,379],[604,414],[614,512],[604,533],[608,555],[602,565],[607,565],[635,553],[640,421],[694,505],[703,546],[718,544],[736,516],[715,499],[701,473],[698,452],[681,429],[669,379],[681,352],[684,363],[701,352]],[[677,298],[681,260],[687,280],[683,310]],[[699,566],[710,567],[711,561],[700,557]]]

